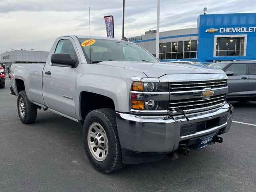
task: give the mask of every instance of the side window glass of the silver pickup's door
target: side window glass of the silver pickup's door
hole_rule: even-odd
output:
[[[67,53],[70,54],[72,59],[77,59],[74,46],[68,39],[62,39],[58,42],[55,53]]]

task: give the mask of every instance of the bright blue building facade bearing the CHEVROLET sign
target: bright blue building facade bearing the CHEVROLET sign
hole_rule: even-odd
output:
[[[198,61],[256,59],[256,13],[198,17]]]

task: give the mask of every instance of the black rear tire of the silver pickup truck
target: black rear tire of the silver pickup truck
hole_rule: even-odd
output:
[[[20,112],[20,99],[24,102],[24,115]],[[26,91],[20,91],[18,94],[18,100],[17,100],[17,107],[18,107],[18,114],[20,117],[20,120],[24,124],[30,124],[34,123],[37,116],[37,106],[35,104],[32,104],[26,95]]]

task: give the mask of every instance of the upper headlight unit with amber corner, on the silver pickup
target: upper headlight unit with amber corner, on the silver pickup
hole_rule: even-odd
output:
[[[132,82],[132,91],[168,92],[167,82]]]

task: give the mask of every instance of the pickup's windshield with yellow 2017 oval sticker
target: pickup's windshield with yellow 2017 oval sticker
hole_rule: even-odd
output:
[[[101,61],[149,61],[158,60],[137,44],[104,39],[79,38],[88,63]]]

